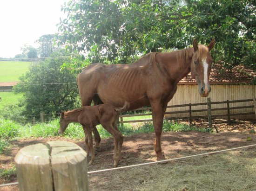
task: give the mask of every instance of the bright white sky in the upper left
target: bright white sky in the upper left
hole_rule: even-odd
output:
[[[33,45],[40,36],[58,32],[56,24],[65,18],[61,12],[65,1],[0,0],[0,57],[21,54],[25,44]]]

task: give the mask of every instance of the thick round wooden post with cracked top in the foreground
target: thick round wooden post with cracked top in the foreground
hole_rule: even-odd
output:
[[[86,153],[72,142],[26,146],[14,160],[20,191],[88,191]]]

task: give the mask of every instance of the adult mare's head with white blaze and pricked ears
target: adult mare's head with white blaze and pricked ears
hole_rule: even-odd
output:
[[[193,42],[193,57],[191,61],[191,76],[198,84],[200,96],[207,97],[210,93],[209,75],[213,58],[210,55],[210,50],[215,44],[213,39],[208,46],[198,45],[197,40]]]

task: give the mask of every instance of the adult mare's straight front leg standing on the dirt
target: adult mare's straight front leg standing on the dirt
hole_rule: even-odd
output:
[[[163,115],[164,115],[164,106],[160,102],[154,102],[151,103],[152,107],[152,113],[153,113],[153,124],[155,127],[155,143],[154,143],[154,148],[155,148],[155,154],[156,154],[156,159],[157,160],[164,160],[164,154],[162,152],[162,147],[161,147],[161,134],[162,134],[162,122],[163,122]]]

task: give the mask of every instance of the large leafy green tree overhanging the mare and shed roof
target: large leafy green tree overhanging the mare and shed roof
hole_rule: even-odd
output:
[[[89,62],[126,63],[149,51],[216,38],[223,63],[256,63],[256,2],[250,0],[70,0],[62,7],[58,45],[87,52]],[[73,64],[73,66],[75,66]]]

